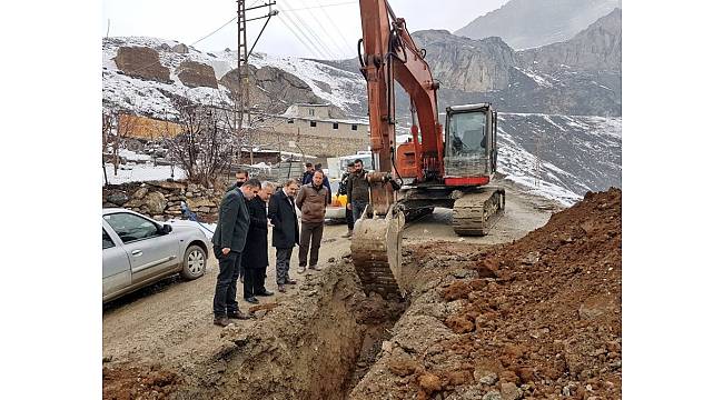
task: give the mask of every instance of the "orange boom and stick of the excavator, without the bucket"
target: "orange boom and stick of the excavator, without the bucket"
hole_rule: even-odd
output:
[[[386,0],[360,0],[359,62],[367,80],[372,152],[382,172],[396,171],[394,82],[413,103],[414,176],[418,181],[444,176],[442,124],[437,112],[438,83],[403,18]],[[418,123],[417,123],[418,121]],[[393,171],[394,169],[394,171]]]

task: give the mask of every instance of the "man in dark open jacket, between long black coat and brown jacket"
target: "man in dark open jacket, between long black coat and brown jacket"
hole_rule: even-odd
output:
[[[291,251],[299,242],[299,224],[296,219],[294,198],[299,191],[299,182],[289,179],[281,190],[271,196],[268,206],[268,218],[274,226],[271,244],[276,248],[276,283],[280,292],[286,292],[286,284],[296,284],[289,278]]]

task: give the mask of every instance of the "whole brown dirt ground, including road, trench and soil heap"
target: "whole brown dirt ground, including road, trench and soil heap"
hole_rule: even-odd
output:
[[[346,227],[328,226],[324,271],[293,268],[300,284],[260,298],[254,320],[211,324],[215,262],[196,281],[107,304],[103,398],[618,398],[620,201],[604,208],[616,227],[573,208],[553,233],[525,237],[555,204],[505,186],[507,212],[488,237],[457,238],[449,210],[405,229],[415,290],[404,303],[364,296]],[[601,261],[588,253],[603,239],[617,248]]]

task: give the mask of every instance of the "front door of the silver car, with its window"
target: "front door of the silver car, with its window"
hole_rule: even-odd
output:
[[[103,219],[128,253],[132,284],[166,273],[178,264],[178,240],[175,234],[161,233],[157,222],[130,212],[110,213]]]

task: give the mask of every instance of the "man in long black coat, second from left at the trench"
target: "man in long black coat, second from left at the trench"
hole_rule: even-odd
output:
[[[268,267],[268,219],[266,217],[266,202],[276,188],[270,182],[265,182],[258,194],[248,202],[248,213],[251,226],[246,237],[246,247],[241,254],[244,266],[244,300],[258,303],[256,296],[273,296],[266,290],[264,278]]]

